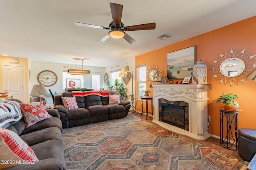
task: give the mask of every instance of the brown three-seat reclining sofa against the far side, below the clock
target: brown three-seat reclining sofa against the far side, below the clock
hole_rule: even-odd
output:
[[[109,91],[109,94],[118,94],[116,91]],[[72,97],[72,92],[62,93],[63,97]],[[67,110],[63,105],[61,96],[54,97],[55,109],[60,114],[63,128],[86,125],[109,119],[119,119],[127,116],[130,109],[130,102],[121,100],[120,104],[108,104],[108,97],[89,95],[76,97],[78,109]]]

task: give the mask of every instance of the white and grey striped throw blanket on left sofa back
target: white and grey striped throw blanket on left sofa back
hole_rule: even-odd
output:
[[[11,100],[0,101],[0,127],[9,122],[16,122],[22,118],[20,104]]]

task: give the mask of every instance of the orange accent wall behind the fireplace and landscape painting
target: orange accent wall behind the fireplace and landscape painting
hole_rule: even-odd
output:
[[[236,101],[240,104],[240,109],[243,109],[238,115],[238,129],[256,129],[256,81],[245,79],[245,84],[239,82],[238,85],[233,84],[231,87],[229,84],[225,85],[224,82],[219,84],[219,80],[212,78],[213,74],[210,70],[211,68],[214,68],[212,66],[214,65],[212,61],[216,60],[217,57],[220,57],[220,53],[229,53],[231,49],[234,51],[237,49],[239,51],[246,49],[245,53],[251,53],[251,55],[256,54],[256,16],[137,56],[135,64],[146,63],[147,70],[149,66],[152,66],[153,64],[158,65],[165,78],[167,77],[167,53],[194,45],[196,45],[196,62],[199,59],[202,59],[208,66],[207,82],[208,84],[212,84],[212,90],[208,91],[208,115],[211,116],[210,124],[212,125],[212,128],[209,126],[210,133],[220,136],[219,107],[221,107],[221,105],[215,101],[222,92],[231,92],[238,95]],[[149,87],[148,82],[146,83],[146,89],[153,92],[153,88]],[[138,100],[139,103],[141,102],[139,99],[136,100]],[[140,108],[138,108],[138,110],[141,110]]]

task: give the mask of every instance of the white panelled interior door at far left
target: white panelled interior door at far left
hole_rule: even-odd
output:
[[[25,101],[24,98],[24,66],[3,66],[3,91],[13,94],[14,99]]]

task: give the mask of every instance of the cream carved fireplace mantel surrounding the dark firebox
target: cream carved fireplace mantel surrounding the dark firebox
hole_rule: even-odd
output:
[[[152,84],[154,116],[153,122],[182,135],[205,140],[210,137],[207,127],[208,100],[207,86],[204,84]],[[172,102],[184,101],[189,104],[189,131],[159,121],[158,99]]]

